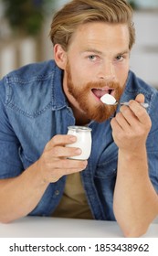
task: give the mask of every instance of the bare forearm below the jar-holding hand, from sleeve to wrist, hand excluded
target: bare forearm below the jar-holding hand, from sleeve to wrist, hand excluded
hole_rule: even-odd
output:
[[[10,222],[26,216],[36,208],[48,183],[44,183],[37,163],[31,165],[22,175],[0,181],[0,221]]]

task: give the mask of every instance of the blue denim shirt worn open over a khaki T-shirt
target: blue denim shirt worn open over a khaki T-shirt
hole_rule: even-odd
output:
[[[17,69],[0,81],[1,179],[19,176],[37,161],[54,135],[66,134],[68,125],[75,124],[62,91],[62,76],[62,70],[49,60]],[[138,93],[143,93],[149,103],[147,112],[153,123],[146,142],[149,176],[158,191],[158,92],[129,71],[121,101],[134,99]],[[118,147],[111,134],[111,118],[103,123],[91,122],[89,126],[92,150],[88,166],[81,172],[82,183],[93,217],[112,220]],[[29,215],[50,216],[62,197],[65,182],[63,176],[50,183]]]

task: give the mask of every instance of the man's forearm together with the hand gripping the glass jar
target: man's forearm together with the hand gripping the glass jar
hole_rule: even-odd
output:
[[[26,216],[36,208],[50,183],[86,168],[86,160],[68,159],[71,155],[81,154],[79,149],[65,146],[75,141],[75,136],[56,135],[47,143],[38,161],[21,176],[0,181],[0,221]]]

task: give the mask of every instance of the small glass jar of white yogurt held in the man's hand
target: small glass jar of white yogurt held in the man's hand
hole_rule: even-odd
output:
[[[69,159],[87,160],[91,152],[91,129],[86,126],[68,126],[68,134],[77,137],[73,144],[67,144],[68,147],[79,147],[81,155],[68,157]]]

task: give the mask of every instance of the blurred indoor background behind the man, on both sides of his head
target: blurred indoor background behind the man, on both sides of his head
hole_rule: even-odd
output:
[[[68,0],[0,0],[0,79],[30,62],[53,59],[52,16]],[[158,89],[158,0],[129,0],[136,44],[131,69]]]

